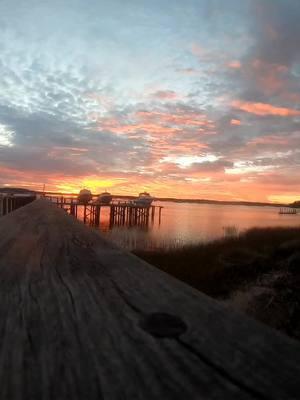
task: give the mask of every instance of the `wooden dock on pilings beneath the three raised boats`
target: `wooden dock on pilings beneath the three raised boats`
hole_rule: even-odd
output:
[[[112,201],[109,204],[91,201],[87,204],[82,204],[76,198],[49,195],[46,195],[45,199],[50,200],[75,218],[82,218],[85,224],[92,226],[100,225],[103,208],[109,209],[111,227],[115,225],[148,226],[150,222],[154,223],[156,217],[158,217],[158,223],[161,224],[163,206],[141,206],[134,204],[132,201]],[[82,210],[81,213],[79,209]]]

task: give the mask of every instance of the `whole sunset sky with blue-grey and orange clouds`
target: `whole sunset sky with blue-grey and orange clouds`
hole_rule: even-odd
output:
[[[0,186],[300,199],[299,0],[0,0]]]

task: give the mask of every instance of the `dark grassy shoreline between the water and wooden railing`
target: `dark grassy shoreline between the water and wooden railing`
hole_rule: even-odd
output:
[[[300,340],[300,227],[134,254],[194,288]]]

